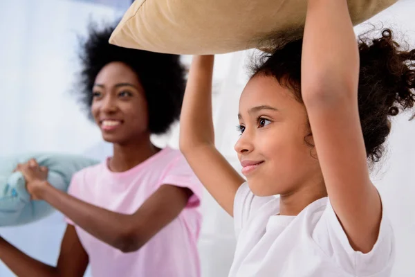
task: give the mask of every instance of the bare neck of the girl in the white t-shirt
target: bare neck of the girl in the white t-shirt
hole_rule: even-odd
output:
[[[309,184],[280,196],[279,214],[298,215],[306,206],[326,196],[327,190],[324,181],[310,181]]]

